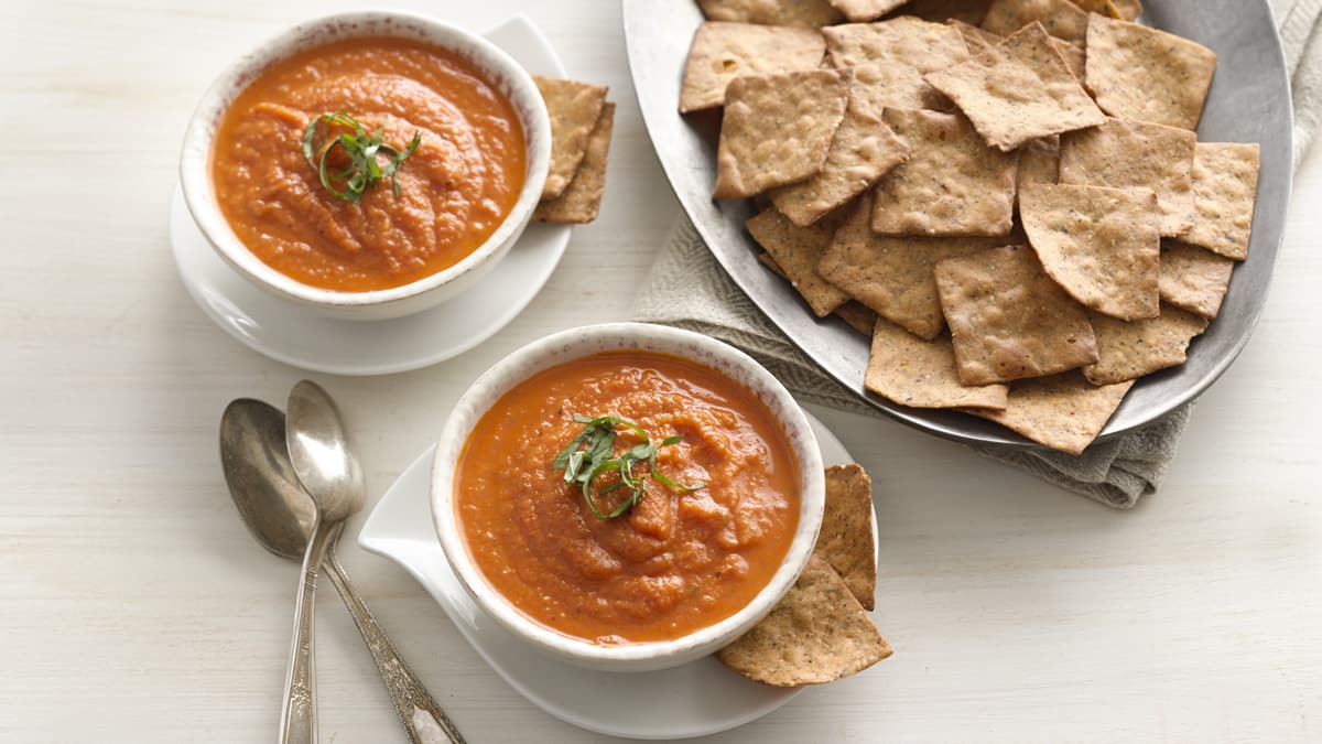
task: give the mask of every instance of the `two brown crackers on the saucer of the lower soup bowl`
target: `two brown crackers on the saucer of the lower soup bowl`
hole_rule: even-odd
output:
[[[777,687],[858,674],[892,653],[867,617],[875,593],[873,482],[861,465],[828,467],[826,511],[808,565],[771,614],[717,658]]]

